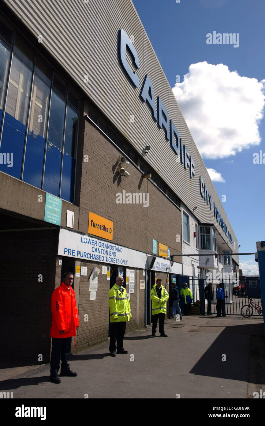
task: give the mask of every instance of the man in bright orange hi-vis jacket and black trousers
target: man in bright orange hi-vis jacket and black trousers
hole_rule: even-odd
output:
[[[63,282],[57,287],[51,296],[51,376],[52,383],[61,383],[58,371],[61,364],[61,376],[77,376],[71,371],[68,364],[72,336],[76,336],[76,328],[79,327],[78,311],[71,288],[74,276],[71,272],[63,275]]]

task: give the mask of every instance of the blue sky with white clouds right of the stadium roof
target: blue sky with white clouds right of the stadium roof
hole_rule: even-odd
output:
[[[226,196],[239,252],[255,252],[265,240],[265,164],[253,163],[254,153],[265,154],[265,2],[133,3],[219,198]],[[207,44],[214,31],[235,34],[239,46]],[[239,261],[246,274],[258,273],[254,256]]]

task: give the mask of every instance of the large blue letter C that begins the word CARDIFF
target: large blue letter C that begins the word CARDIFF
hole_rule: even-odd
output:
[[[134,48],[133,43],[131,43],[131,40],[129,39],[128,35],[125,33],[124,29],[120,29],[119,31],[119,59],[121,66],[123,67],[124,71],[128,75],[129,79],[133,83],[135,87],[139,86],[139,77],[136,74],[135,71],[132,71],[131,67],[129,66],[127,60],[126,60],[126,49],[130,52],[134,67],[136,69],[139,69],[139,58],[136,52],[136,49]]]

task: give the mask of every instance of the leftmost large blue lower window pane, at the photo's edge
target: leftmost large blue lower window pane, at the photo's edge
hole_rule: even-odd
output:
[[[13,165],[0,164],[0,170],[17,179],[21,176],[25,132],[26,126],[6,112],[0,152],[13,153]]]

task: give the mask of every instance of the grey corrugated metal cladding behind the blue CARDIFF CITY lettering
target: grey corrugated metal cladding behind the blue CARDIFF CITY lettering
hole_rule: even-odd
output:
[[[235,238],[133,3],[131,0],[85,1],[5,0],[5,3],[35,37],[43,36],[43,46],[139,153],[142,153],[145,145],[151,145],[146,160],[191,211],[194,206],[198,207],[195,212],[198,219],[215,224],[215,202],[228,230]],[[140,61],[140,69],[137,71],[140,85],[137,89],[134,89],[120,66],[118,32],[121,28],[129,37],[134,36],[134,46]],[[165,139],[164,130],[157,127],[147,105],[139,98],[145,74],[150,76],[155,98],[160,96],[162,99],[169,118],[174,121],[182,142],[193,158],[195,176],[192,179],[189,177],[189,170],[176,162],[176,155]],[[85,75],[88,75],[88,83],[84,81]],[[130,122],[131,114],[134,115],[134,123]],[[212,196],[211,210],[200,195],[199,176],[202,176]],[[227,241],[222,228],[217,225],[217,229]]]

